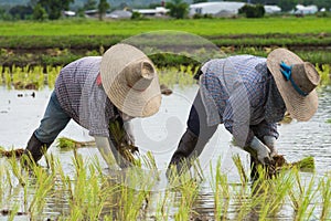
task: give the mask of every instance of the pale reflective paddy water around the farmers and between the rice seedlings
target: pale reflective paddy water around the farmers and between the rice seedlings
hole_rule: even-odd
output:
[[[150,187],[150,203],[143,202],[142,206],[139,206],[139,201],[137,200],[139,215],[134,217],[138,220],[184,220],[184,217],[180,214],[184,214],[185,212],[179,211],[181,211],[183,209],[182,206],[185,204],[186,208],[190,208],[189,219],[191,220],[258,220],[261,217],[261,214],[258,213],[258,207],[261,206],[257,204],[253,207],[253,204],[249,204],[249,207],[246,207],[247,203],[245,203],[245,201],[249,201],[250,192],[236,190],[236,187],[241,187],[243,183],[232,159],[233,156],[239,155],[245,170],[248,171],[249,157],[243,150],[233,147],[231,143],[232,136],[224,129],[223,125],[220,125],[216,134],[205,147],[200,158],[201,171],[204,179],[200,181],[199,188],[192,188],[192,186],[190,186],[193,185],[191,181],[188,181],[184,186],[188,190],[192,190],[192,192],[195,191],[193,198],[184,198],[185,194],[181,189],[180,193],[171,198],[171,203],[164,202],[170,199],[170,197],[164,197],[169,194],[169,183],[164,176],[164,170],[177,148],[181,135],[185,130],[185,122],[196,90],[196,85],[185,87],[174,86],[173,94],[163,97],[162,106],[158,114],[149,118],[134,119],[136,145],[139,147],[141,155],[148,151],[152,152],[160,173],[159,179],[156,179],[152,187]],[[39,126],[51,92],[52,90],[49,87],[42,91],[17,91],[0,86],[0,146],[6,149],[25,147],[31,134]],[[32,93],[34,93],[34,96],[32,96]],[[306,181],[309,181],[312,177],[319,180],[322,178],[330,179],[331,176],[331,124],[328,123],[328,120],[331,119],[331,87],[320,90],[319,96],[319,109],[310,122],[291,122],[279,126],[279,154],[285,155],[288,161],[297,161],[307,156],[314,157],[316,172],[299,172],[302,183],[306,183]],[[86,129],[83,129],[74,122],[70,123],[61,133],[60,137],[70,137],[82,141],[93,139],[88,136]],[[74,180],[76,178],[75,165],[73,162],[74,151],[61,150],[56,147],[56,144],[53,144],[49,152],[58,159],[63,173]],[[109,177],[110,180],[118,176],[119,172],[116,169],[108,168],[96,147],[81,148],[77,149],[77,152],[86,162],[90,162],[97,158],[103,173]],[[1,169],[4,167],[6,160],[7,159],[3,158],[0,159]],[[215,172],[218,168],[216,167],[217,162],[221,162],[222,175],[224,175],[226,179],[227,187],[234,190],[235,197],[221,197],[221,199],[215,197],[215,187],[213,187],[212,182],[213,179],[215,179]],[[47,164],[44,159],[41,160],[41,166],[46,168]],[[1,173],[1,176],[4,175]],[[196,177],[199,178],[199,176]],[[1,177],[1,182],[4,183],[7,180],[3,180]],[[312,189],[320,188],[318,183],[317,181]],[[14,220],[30,220],[31,213],[28,210],[38,189],[33,186],[23,188],[14,176],[12,176],[11,186],[2,185],[0,187],[2,188],[0,197],[0,210],[2,211],[2,215],[0,214],[0,220],[8,220],[10,217],[6,214],[6,211],[12,211],[15,207],[15,211],[21,213],[17,213]],[[56,183],[54,188],[56,189]],[[34,219],[61,220],[73,218],[74,215],[71,211],[73,202],[70,200],[68,194],[68,192],[55,191],[53,194],[43,196],[44,206],[41,212],[34,215]],[[241,196],[241,200],[237,200],[239,199],[238,196]],[[274,197],[276,198],[277,196]],[[292,192],[292,200],[285,200],[281,209],[266,217],[268,217],[269,220],[295,220],[296,212],[298,212],[293,207],[295,198],[296,192]],[[314,198],[308,202],[309,206],[307,208],[311,209],[311,207],[313,207],[313,209],[311,209],[312,214],[308,217],[309,220],[319,220],[321,217],[322,199],[327,198],[322,198],[317,193]],[[127,201],[129,201],[129,199],[127,199]],[[163,207],[160,207],[160,203],[168,204],[166,211],[163,211]],[[148,207],[146,204],[148,204]],[[218,209],[216,206],[218,206]],[[116,215],[116,211],[110,212],[111,210],[105,208],[102,212],[103,215],[109,215],[116,220],[124,218],[118,214]],[[249,211],[243,213],[247,208]],[[124,210],[124,208],[121,209]],[[225,211],[222,211],[222,209]],[[302,218],[305,218],[305,215]],[[86,219],[88,220],[88,218]]]

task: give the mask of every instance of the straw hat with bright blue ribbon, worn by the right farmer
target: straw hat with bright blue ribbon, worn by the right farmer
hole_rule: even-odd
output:
[[[286,49],[270,52],[267,65],[290,116],[309,120],[318,108],[316,87],[320,76],[314,66]]]

